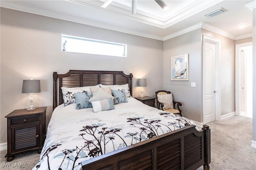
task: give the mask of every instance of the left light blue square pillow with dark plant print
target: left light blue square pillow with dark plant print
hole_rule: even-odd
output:
[[[88,100],[92,98],[92,92],[75,93],[76,109],[84,109],[92,107],[92,103]]]

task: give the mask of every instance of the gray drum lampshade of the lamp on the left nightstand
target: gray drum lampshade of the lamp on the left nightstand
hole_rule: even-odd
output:
[[[22,93],[41,92],[40,80],[23,80]]]

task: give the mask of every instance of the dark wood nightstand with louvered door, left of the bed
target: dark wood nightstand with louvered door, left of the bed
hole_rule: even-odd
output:
[[[41,153],[46,137],[46,108],[35,110],[14,110],[7,118],[7,154],[6,160],[12,161],[15,154],[28,150]]]

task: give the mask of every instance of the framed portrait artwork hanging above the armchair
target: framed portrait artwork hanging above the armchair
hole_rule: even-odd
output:
[[[172,56],[171,80],[189,80],[188,76],[188,54]]]

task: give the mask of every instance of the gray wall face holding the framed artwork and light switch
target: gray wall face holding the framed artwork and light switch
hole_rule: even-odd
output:
[[[189,80],[171,81],[170,57],[188,53]],[[164,90],[173,93],[174,100],[182,102],[182,115],[202,122],[201,29],[190,31],[164,41]],[[196,87],[191,87],[191,82]]]

